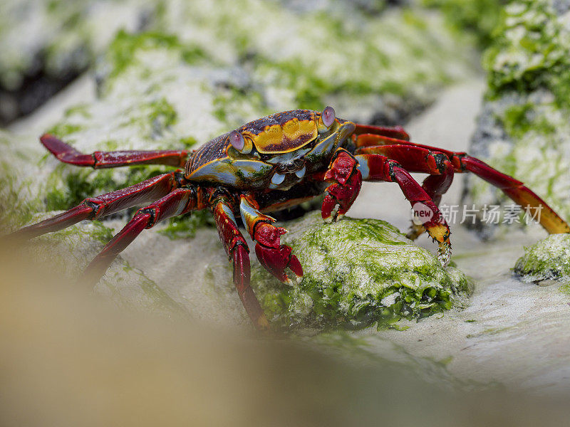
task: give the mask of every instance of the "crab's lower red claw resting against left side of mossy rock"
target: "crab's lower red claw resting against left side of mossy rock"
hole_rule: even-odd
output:
[[[285,273],[289,268],[297,283],[303,278],[303,268],[299,259],[293,255],[293,250],[286,245],[281,245],[280,236],[287,231],[285,228],[272,226],[270,223],[258,223],[254,237],[257,241],[255,253],[259,263],[266,268],[281,282],[291,285],[293,280]]]

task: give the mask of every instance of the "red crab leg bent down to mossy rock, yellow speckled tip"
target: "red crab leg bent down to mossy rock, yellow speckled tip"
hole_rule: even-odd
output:
[[[358,169],[361,171],[364,180],[397,182],[413,208],[425,210],[429,216],[426,217],[427,220],[423,225],[427,233],[439,243],[438,258],[440,262],[447,265],[451,256],[451,231],[430,195],[398,162],[380,154],[358,154],[355,157],[358,160]]]

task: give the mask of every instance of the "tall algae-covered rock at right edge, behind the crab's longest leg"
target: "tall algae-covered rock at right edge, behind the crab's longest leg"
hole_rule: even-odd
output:
[[[509,4],[484,66],[489,88],[470,154],[524,181],[570,218],[570,1]],[[467,178],[468,206],[512,204]],[[492,224],[481,226],[485,235]]]

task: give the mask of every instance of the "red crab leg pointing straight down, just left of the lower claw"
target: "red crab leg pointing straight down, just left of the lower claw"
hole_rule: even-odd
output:
[[[225,194],[214,196],[210,202],[219,240],[222,241],[228,258],[234,263],[234,285],[249,318],[257,329],[269,330],[269,322],[249,285],[249,248],[247,248],[244,236],[237,228],[232,205],[232,201]]]

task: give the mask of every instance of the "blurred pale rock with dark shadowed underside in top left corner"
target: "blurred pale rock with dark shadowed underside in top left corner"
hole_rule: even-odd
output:
[[[4,0],[0,125],[46,102],[93,63],[120,28],[138,31],[157,2]]]

